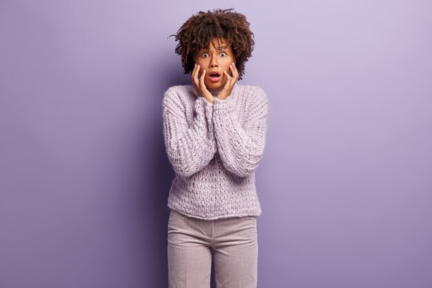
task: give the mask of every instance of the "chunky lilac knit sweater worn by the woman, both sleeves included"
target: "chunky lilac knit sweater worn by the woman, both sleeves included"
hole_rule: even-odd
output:
[[[258,216],[255,169],[264,152],[268,99],[256,86],[235,84],[214,103],[193,85],[173,86],[162,102],[164,140],[175,179],[168,207],[201,219]]]

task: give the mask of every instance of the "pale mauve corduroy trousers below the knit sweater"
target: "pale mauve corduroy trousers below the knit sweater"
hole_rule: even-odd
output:
[[[257,287],[257,219],[201,220],[171,210],[168,220],[170,288],[210,288],[212,251],[217,288]]]

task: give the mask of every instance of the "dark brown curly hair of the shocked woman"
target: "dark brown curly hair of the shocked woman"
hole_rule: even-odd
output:
[[[175,41],[179,41],[175,52],[181,55],[181,65],[184,73],[188,74],[194,67],[194,56],[202,49],[210,45],[213,38],[224,37],[233,49],[235,66],[239,73],[239,79],[244,75],[244,64],[252,57],[253,32],[249,28],[246,17],[231,9],[216,9],[208,12],[199,11],[190,17],[177,31]],[[168,37],[169,38],[169,37]],[[215,44],[211,42],[213,46]],[[216,48],[216,47],[215,47]]]

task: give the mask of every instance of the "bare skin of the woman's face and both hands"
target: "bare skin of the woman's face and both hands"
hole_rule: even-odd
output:
[[[239,79],[231,46],[227,44],[224,38],[222,38],[220,46],[217,46],[217,38],[213,38],[212,41],[215,46],[209,44],[208,48],[199,50],[195,55],[195,66],[191,73],[199,97],[206,98],[210,103],[213,103],[213,95],[208,88],[216,89],[223,86],[222,90],[217,94],[217,98],[224,100],[231,95],[234,84]],[[220,77],[212,78],[209,73],[218,73]]]

